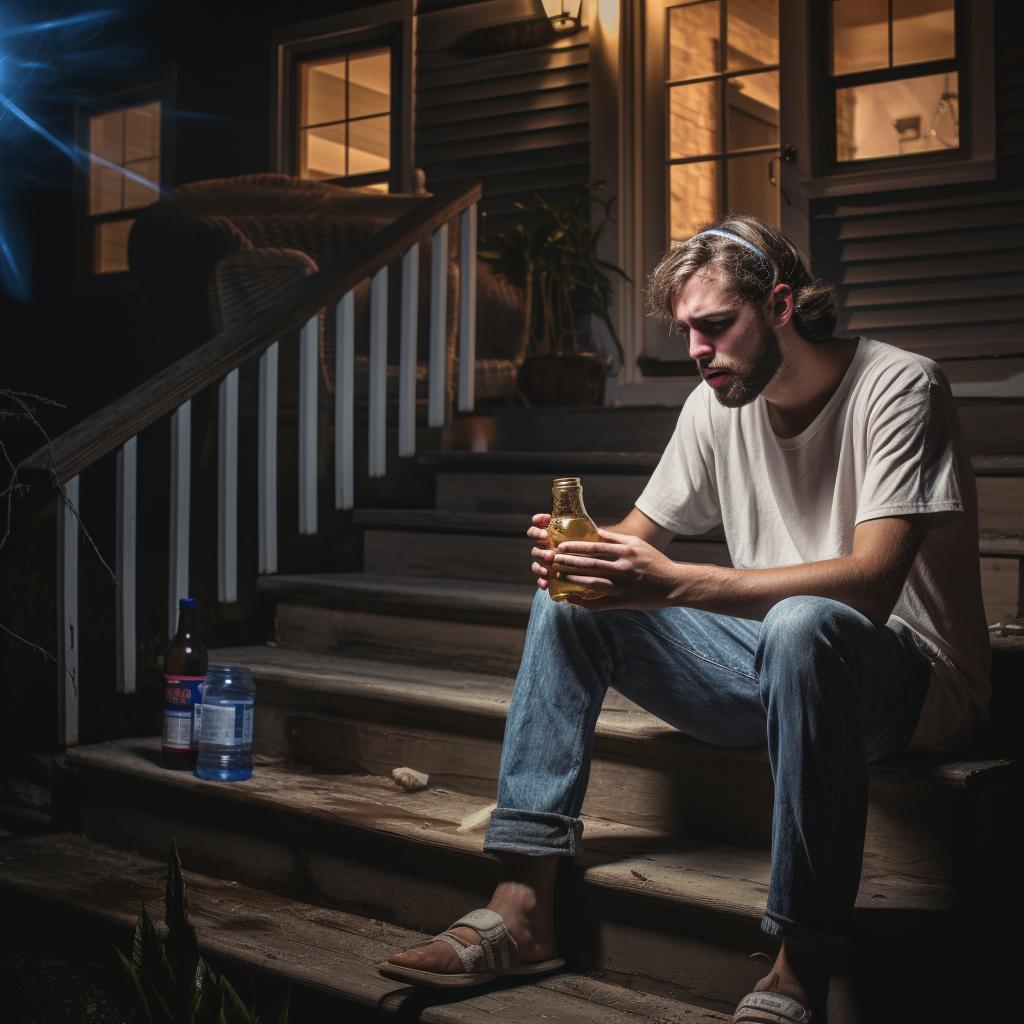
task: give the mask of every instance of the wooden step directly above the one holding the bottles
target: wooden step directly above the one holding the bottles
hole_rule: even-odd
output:
[[[211,663],[252,670],[254,749],[265,757],[380,775],[408,765],[484,803],[495,798],[510,679],[266,647],[215,650]],[[991,818],[998,831],[1015,779],[1012,759],[982,752],[872,766],[865,870],[942,881],[957,865],[969,873],[985,851],[965,828]],[[763,748],[701,743],[609,690],[585,813],[767,849],[772,799]]]

